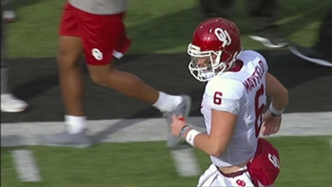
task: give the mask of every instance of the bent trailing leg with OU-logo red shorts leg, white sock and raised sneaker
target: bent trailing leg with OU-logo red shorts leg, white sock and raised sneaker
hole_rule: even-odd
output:
[[[80,11],[80,30],[84,53],[92,80],[124,95],[152,104],[164,113],[171,124],[173,113],[189,115],[189,96],[158,92],[137,76],[117,70],[113,57],[121,58],[130,45],[123,23],[124,13],[98,15]],[[181,138],[169,133],[167,145],[175,146]]]

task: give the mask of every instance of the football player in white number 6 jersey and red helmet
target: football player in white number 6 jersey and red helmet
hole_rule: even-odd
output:
[[[243,50],[229,20],[201,23],[188,54],[190,73],[207,83],[201,104],[207,133],[190,128],[181,115],[173,115],[172,133],[210,155],[212,164],[198,186],[272,185],[280,172],[279,153],[259,135],[279,131],[287,89],[268,73],[261,54]],[[264,113],[267,96],[272,102]]]

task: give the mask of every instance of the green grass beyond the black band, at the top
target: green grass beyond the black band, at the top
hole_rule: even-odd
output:
[[[195,27],[199,24],[197,0],[129,0],[125,18],[128,36],[133,40],[128,54],[185,53]],[[309,46],[316,41],[321,18],[330,0],[280,0],[278,23],[292,42]],[[18,21],[8,24],[8,57],[54,57],[57,29],[64,0],[15,1]],[[264,48],[251,40],[251,22],[245,4],[236,1],[234,22],[242,33],[245,48]]]

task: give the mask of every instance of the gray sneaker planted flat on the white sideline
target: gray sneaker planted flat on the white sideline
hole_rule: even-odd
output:
[[[91,140],[83,130],[77,134],[69,134],[67,130],[51,135],[42,135],[40,137],[42,145],[49,146],[69,146],[76,148],[87,148],[92,145]]]

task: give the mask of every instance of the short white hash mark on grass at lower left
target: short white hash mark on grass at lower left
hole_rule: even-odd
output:
[[[12,156],[18,177],[24,182],[38,182],[41,181],[39,170],[34,159],[32,151],[29,150],[15,150],[12,151]]]

